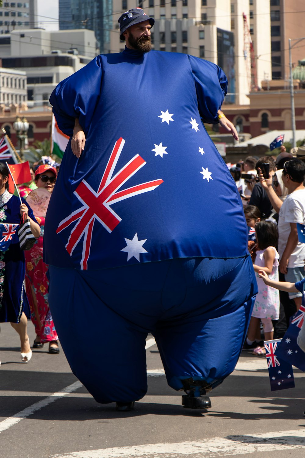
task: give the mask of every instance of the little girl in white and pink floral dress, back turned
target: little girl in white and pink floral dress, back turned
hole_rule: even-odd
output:
[[[258,250],[253,267],[257,276],[258,294],[252,311],[248,337],[246,338],[246,344],[249,347],[255,344],[255,337],[259,331],[260,322],[262,322],[264,327],[265,340],[272,340],[272,320],[278,320],[279,317],[278,290],[265,285],[262,278],[258,275],[258,271],[264,271],[271,280],[278,281],[279,254],[275,248],[278,245],[278,226],[275,221],[263,220],[257,223],[255,229]],[[256,355],[263,355],[265,353],[265,349],[260,345],[256,346],[253,351],[253,354]]]

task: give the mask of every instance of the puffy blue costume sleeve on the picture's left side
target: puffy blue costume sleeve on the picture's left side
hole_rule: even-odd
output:
[[[102,66],[99,56],[69,76],[54,89],[50,97],[59,129],[72,136],[75,118],[87,134],[102,85]]]

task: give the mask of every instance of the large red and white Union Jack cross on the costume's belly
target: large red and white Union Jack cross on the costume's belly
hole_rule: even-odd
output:
[[[124,183],[146,164],[144,159],[139,154],[136,154],[122,169],[114,174],[114,169],[118,163],[124,144],[125,140],[122,137],[115,142],[97,192],[88,185],[86,180],[80,182],[74,194],[83,205],[78,210],[72,212],[67,218],[64,218],[56,230],[56,233],[59,234],[59,232],[66,229],[70,224],[77,221],[70,233],[66,250],[72,256],[76,245],[84,235],[80,262],[82,270],[87,269],[95,220],[111,233],[120,221],[122,221],[122,218],[112,210],[112,204],[144,192],[153,191],[163,183],[163,180],[158,179],[120,191]]]

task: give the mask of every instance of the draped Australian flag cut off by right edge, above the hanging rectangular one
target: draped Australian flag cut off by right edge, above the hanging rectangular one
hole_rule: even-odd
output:
[[[296,340],[304,322],[304,315],[305,306],[301,305],[282,338],[281,344],[278,345],[277,352],[282,360],[294,365],[301,371],[305,371],[305,353],[300,349]]]

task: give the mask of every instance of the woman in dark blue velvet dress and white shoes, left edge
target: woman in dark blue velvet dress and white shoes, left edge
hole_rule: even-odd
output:
[[[29,218],[32,234],[39,237],[40,228],[32,210],[22,199],[8,191],[9,171],[5,164],[0,163],[0,223],[20,223],[22,215]],[[6,251],[0,251],[0,322],[11,322],[20,337],[21,360],[27,363],[32,351],[27,335],[27,316],[29,305],[24,290],[25,262],[21,251],[18,235],[14,235],[11,245]]]

